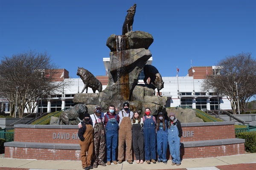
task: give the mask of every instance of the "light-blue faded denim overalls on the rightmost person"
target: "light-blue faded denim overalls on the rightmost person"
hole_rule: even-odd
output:
[[[180,164],[180,137],[176,125],[171,125],[168,129],[168,142],[170,153],[172,156],[172,163]]]

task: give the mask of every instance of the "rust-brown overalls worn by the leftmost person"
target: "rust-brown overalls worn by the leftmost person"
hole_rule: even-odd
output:
[[[93,157],[93,126],[86,125],[86,130],[84,132],[84,141],[79,142],[81,147],[81,161],[82,167],[89,167],[91,165],[91,159]],[[86,154],[87,152],[87,154]]]

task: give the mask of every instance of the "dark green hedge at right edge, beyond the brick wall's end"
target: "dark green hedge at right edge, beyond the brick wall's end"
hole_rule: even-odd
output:
[[[236,138],[245,139],[246,152],[256,153],[256,131],[237,133]]]

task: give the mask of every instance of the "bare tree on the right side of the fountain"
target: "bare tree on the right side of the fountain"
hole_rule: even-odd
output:
[[[213,89],[226,95],[233,114],[238,112],[238,108],[243,113],[247,101],[256,94],[256,60],[251,57],[250,53],[241,53],[226,57],[217,65],[220,72],[217,75],[209,75],[204,80],[202,89],[204,91]]]

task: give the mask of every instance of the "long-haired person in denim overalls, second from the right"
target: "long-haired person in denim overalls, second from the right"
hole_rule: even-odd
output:
[[[168,121],[164,119],[162,112],[158,114],[157,119],[157,155],[158,161],[160,163],[163,161],[167,164],[166,152],[168,146]]]

